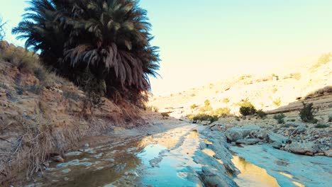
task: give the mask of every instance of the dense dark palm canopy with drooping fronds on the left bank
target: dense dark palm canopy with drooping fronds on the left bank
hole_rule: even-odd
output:
[[[13,29],[43,62],[81,84],[90,72],[106,94],[133,101],[159,69],[146,11],[133,0],[31,0]],[[83,76],[84,74],[84,76]]]

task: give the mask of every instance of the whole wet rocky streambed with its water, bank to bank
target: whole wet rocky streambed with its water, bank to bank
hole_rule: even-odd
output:
[[[284,151],[267,144],[232,145],[229,132],[216,128],[221,126],[160,120],[150,127],[118,130],[87,140],[81,149],[63,155],[63,163],[45,164],[46,171],[26,186],[326,186],[332,182],[331,158],[303,159],[291,153],[283,157]],[[253,138],[245,137],[241,141],[253,144]]]

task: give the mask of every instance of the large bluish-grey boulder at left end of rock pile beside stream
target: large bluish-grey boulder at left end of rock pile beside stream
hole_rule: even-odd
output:
[[[250,135],[250,132],[258,132],[260,127],[258,125],[244,125],[243,127],[230,128],[226,131],[226,137],[228,140],[236,142],[237,140],[243,140]]]

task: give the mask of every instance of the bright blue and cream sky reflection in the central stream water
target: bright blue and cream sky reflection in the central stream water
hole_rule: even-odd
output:
[[[174,137],[174,136],[169,136]],[[201,170],[201,165],[196,164],[192,156],[199,147],[199,136],[197,131],[177,139],[179,142],[165,144],[157,137],[138,154],[145,169],[141,178],[144,186],[202,186],[196,171]],[[170,140],[172,142],[172,140]]]

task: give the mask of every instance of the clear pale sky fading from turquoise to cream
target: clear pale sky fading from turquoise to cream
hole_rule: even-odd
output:
[[[156,95],[218,79],[258,73],[300,57],[332,51],[331,0],[141,0],[160,47]],[[8,30],[24,0],[0,1]],[[7,32],[7,40],[22,45]]]

